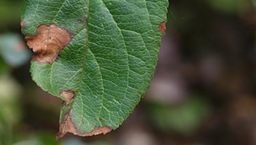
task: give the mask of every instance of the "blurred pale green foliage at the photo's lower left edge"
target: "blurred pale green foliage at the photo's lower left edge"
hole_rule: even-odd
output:
[[[12,142],[13,127],[21,117],[18,102],[20,93],[20,86],[11,76],[0,76],[0,130],[4,130],[0,131],[0,144]]]

